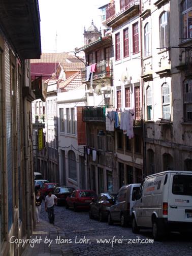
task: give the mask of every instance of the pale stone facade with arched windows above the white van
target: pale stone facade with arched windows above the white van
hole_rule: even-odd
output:
[[[192,170],[191,8],[190,1],[142,1],[146,175]]]

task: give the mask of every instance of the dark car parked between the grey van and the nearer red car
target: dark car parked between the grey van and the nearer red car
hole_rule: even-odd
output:
[[[97,200],[89,205],[89,217],[99,218],[100,221],[106,220],[108,218],[109,208],[115,203],[115,198],[117,194],[112,193],[101,193]]]

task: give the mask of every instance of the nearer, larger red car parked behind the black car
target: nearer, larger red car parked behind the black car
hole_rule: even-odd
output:
[[[72,207],[74,211],[79,208],[89,209],[92,200],[97,199],[97,194],[93,190],[75,190],[66,199],[66,208]]]

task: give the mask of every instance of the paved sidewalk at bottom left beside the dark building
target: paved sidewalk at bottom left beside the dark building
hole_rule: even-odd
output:
[[[72,246],[67,243],[65,233],[60,228],[53,226],[45,220],[41,220],[40,223],[37,223],[33,235],[31,235],[30,240],[25,245],[21,256],[51,255],[73,256]]]

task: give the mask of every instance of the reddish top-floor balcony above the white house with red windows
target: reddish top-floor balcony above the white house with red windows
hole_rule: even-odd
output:
[[[124,17],[125,15],[130,15],[131,13],[133,14],[133,12],[138,11],[138,6],[139,6],[139,0],[120,0],[120,13],[116,14],[115,13],[115,2],[112,3],[111,5],[109,5],[108,7],[106,7],[106,23],[108,26],[114,25],[114,23],[116,23],[116,18],[118,19],[122,19],[122,21],[124,21],[124,19],[126,19],[126,17]],[[126,11],[126,12],[125,12]],[[114,22],[110,22],[114,19]]]

